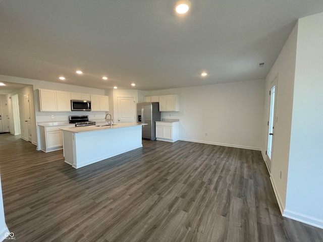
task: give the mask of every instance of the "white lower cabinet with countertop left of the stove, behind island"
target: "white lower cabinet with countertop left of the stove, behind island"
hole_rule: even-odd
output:
[[[74,125],[38,127],[40,135],[40,148],[44,152],[50,152],[63,149],[63,133],[60,128],[74,127]]]

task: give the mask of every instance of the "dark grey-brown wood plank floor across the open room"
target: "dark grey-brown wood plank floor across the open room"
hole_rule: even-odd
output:
[[[0,135],[6,222],[15,241],[323,241],[280,215],[259,151],[178,141],[74,169]]]

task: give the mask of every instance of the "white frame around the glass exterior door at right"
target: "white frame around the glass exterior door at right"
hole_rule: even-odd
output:
[[[271,95],[268,95],[268,112],[267,112],[267,129],[266,129],[266,164],[268,166],[268,160],[270,160],[270,166],[268,166],[268,169],[272,170],[273,166],[273,157],[274,157],[274,143],[275,143],[275,128],[276,128],[276,123],[277,123],[277,94],[278,94],[278,73],[275,75],[273,80],[269,84],[269,91],[272,90],[272,87],[275,86],[275,99],[274,99],[274,120],[273,120],[273,126],[274,126],[274,131],[273,131],[273,138],[272,138],[272,151],[271,151],[271,158],[268,156],[268,139],[269,139],[269,118],[270,118],[270,112],[271,112]]]

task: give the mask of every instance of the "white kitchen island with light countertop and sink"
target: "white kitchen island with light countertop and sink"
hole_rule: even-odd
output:
[[[80,168],[142,147],[142,125],[61,128],[65,162]]]

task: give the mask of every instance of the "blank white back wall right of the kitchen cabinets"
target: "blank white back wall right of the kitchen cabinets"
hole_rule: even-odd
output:
[[[180,119],[180,139],[260,150],[264,80],[150,91],[179,94],[180,111],[162,118]],[[207,135],[205,135],[207,133]]]

